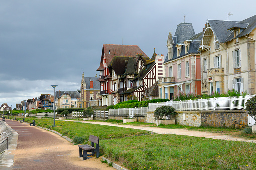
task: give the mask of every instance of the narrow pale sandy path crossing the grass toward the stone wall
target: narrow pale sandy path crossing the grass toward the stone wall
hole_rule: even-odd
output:
[[[81,123],[100,124],[100,125],[116,126],[116,127],[125,127],[125,128],[131,128],[131,129],[139,129],[139,130],[147,130],[147,131],[155,132],[158,134],[176,134],[176,135],[185,135],[185,136],[206,137],[206,138],[220,139],[220,140],[233,140],[233,141],[256,143],[256,140],[242,139],[242,138],[238,138],[238,137],[232,137],[229,135],[221,135],[219,133],[208,133],[208,132],[192,131],[192,130],[185,130],[185,129],[164,129],[164,128],[158,128],[158,127],[144,127],[144,126],[132,126],[132,125],[125,125],[125,124],[113,124],[113,123],[108,123],[108,122],[77,121],[77,120],[65,120],[65,119],[60,119],[60,120],[61,121],[76,121],[76,122],[81,122]]]

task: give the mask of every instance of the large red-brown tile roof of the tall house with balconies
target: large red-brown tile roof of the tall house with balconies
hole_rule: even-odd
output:
[[[97,71],[103,70],[103,56],[105,54],[106,64],[107,66],[110,64],[111,60],[114,56],[128,56],[135,57],[138,53],[145,55],[146,58],[148,56],[144,54],[144,52],[137,45],[118,45],[118,44],[103,44],[102,46],[102,55],[101,55],[101,63]],[[149,59],[149,58],[148,58]]]

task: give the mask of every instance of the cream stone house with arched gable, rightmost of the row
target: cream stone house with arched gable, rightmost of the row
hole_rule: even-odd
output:
[[[255,28],[256,15],[242,21],[207,20],[199,48],[202,93],[256,93]]]

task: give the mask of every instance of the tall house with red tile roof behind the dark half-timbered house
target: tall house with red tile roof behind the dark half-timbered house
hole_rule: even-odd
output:
[[[103,44],[100,66],[97,71],[100,72],[100,95],[102,96],[102,105],[112,105],[113,100],[113,86],[112,74],[109,71],[109,64],[115,56],[120,57],[136,57],[137,54],[142,54],[147,58],[145,53],[137,45],[114,45]],[[114,73],[113,73],[114,74]]]

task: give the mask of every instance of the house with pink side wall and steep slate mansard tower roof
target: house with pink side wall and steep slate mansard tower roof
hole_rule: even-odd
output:
[[[202,34],[195,34],[192,23],[180,23],[174,36],[169,32],[164,61],[166,77],[159,78],[159,98],[172,99],[179,92],[201,94],[198,48]]]

